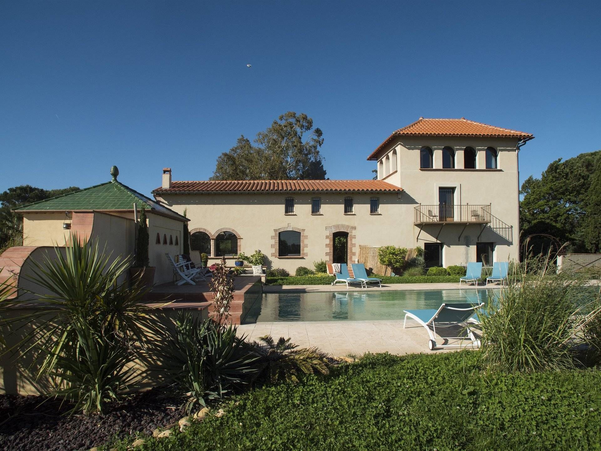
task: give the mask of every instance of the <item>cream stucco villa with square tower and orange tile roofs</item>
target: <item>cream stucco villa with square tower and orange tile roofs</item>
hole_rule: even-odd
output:
[[[260,249],[270,267],[294,271],[393,244],[423,247],[429,265],[492,264],[518,254],[518,156],[532,138],[419,118],[367,156],[377,180],[173,181],[165,168],[153,195],[187,209],[191,247],[212,261]]]

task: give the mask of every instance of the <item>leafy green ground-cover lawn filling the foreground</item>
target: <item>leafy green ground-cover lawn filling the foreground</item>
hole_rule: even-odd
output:
[[[236,396],[225,416],[140,449],[601,449],[599,371],[486,373],[478,354],[367,356]]]

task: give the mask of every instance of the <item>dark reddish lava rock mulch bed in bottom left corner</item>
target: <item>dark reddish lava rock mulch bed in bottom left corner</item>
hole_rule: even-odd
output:
[[[14,451],[88,450],[136,432],[151,434],[185,416],[181,398],[160,389],[112,403],[105,414],[66,414],[69,405],[43,396],[0,395],[0,449]],[[41,404],[41,405],[40,405]]]

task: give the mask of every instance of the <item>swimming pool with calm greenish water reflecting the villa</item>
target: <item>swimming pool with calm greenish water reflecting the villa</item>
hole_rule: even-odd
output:
[[[263,293],[243,324],[272,321],[403,319],[406,309],[437,309],[443,302],[486,302],[498,289],[428,289]]]

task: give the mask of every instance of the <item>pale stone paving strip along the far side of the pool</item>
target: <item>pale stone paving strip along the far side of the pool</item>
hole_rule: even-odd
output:
[[[281,292],[350,292],[350,291],[423,291],[423,290],[438,290],[438,289],[489,289],[501,288],[501,285],[490,283],[489,285],[463,285],[459,283],[388,283],[382,284],[382,288],[377,286],[368,286],[368,288],[359,288],[352,286],[346,288],[343,285],[265,285],[263,286],[264,293],[281,293]]]

